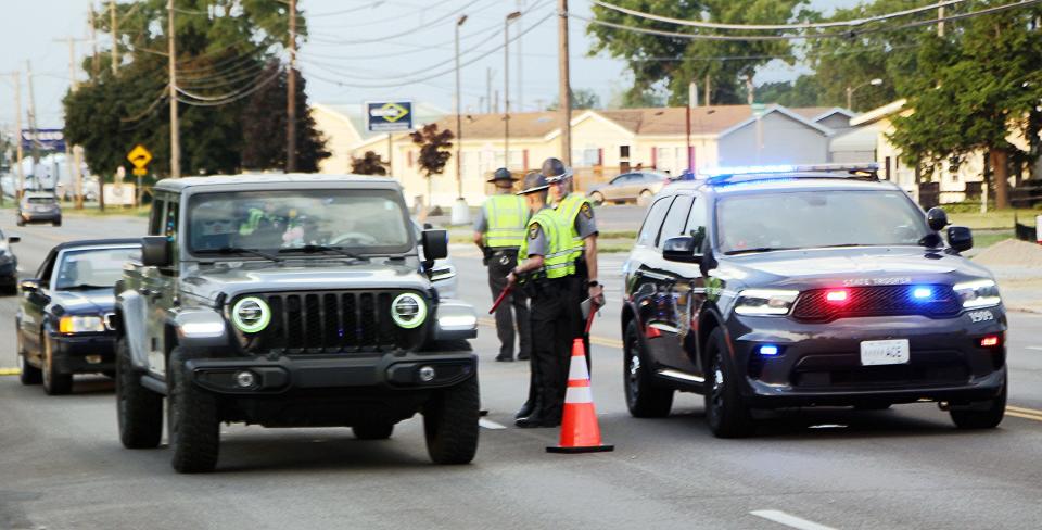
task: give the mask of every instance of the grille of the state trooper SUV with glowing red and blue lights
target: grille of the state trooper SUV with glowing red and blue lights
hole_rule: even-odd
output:
[[[916,300],[915,289],[927,287],[931,295]],[[962,310],[958,296],[951,286],[874,286],[847,288],[846,303],[834,303],[826,299],[834,289],[814,289],[804,291],[796,301],[792,317],[798,320],[828,321],[837,318],[865,316],[923,315],[928,317],[950,317]]]

